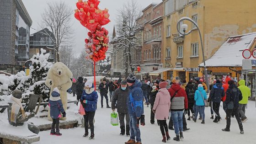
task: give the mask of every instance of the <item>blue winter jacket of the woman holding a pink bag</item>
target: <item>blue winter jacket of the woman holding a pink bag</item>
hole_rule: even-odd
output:
[[[94,88],[93,88],[94,89]],[[87,101],[83,106],[85,108],[85,112],[95,112],[97,101],[98,101],[98,94],[96,91],[93,91],[91,94],[87,94],[85,90],[83,91],[81,102],[84,100]]]

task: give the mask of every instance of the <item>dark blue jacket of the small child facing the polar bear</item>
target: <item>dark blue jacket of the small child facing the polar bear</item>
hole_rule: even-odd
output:
[[[60,98],[58,98],[60,96],[59,93],[53,91],[52,96],[54,99],[56,99],[56,98],[59,99],[57,101],[49,100],[50,116],[53,119],[57,119],[57,118],[61,117],[60,113],[64,113],[65,111],[64,111],[64,108],[63,108]]]

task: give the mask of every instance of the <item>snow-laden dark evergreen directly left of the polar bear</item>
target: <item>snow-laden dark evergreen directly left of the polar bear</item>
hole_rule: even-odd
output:
[[[43,101],[48,101],[50,88],[48,88],[44,82],[46,80],[47,72],[51,68],[52,63],[48,62],[50,56],[49,53],[46,53],[46,50],[41,48],[41,53],[37,53],[31,59],[32,66],[30,66],[30,75],[32,79],[32,86],[29,90],[33,91],[36,95],[43,95]]]

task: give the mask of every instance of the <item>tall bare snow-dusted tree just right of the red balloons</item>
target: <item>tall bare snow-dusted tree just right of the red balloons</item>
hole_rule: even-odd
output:
[[[128,69],[134,71],[132,51],[135,49],[136,44],[140,42],[141,38],[137,37],[141,28],[140,23],[137,22],[141,16],[139,5],[132,0],[123,5],[123,8],[118,10],[117,15],[117,37],[112,41],[114,43],[113,51],[121,51],[125,63],[125,75],[128,76]]]

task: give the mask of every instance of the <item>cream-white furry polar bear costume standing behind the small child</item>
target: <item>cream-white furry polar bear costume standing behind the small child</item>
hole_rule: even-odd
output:
[[[63,108],[66,111],[68,106],[67,90],[72,86],[73,74],[70,69],[63,63],[55,63],[48,70],[45,85],[51,88],[50,96],[55,87],[59,89],[60,98],[63,104]],[[48,119],[51,120],[50,110],[48,112]],[[66,117],[62,117],[61,120],[66,120]]]

